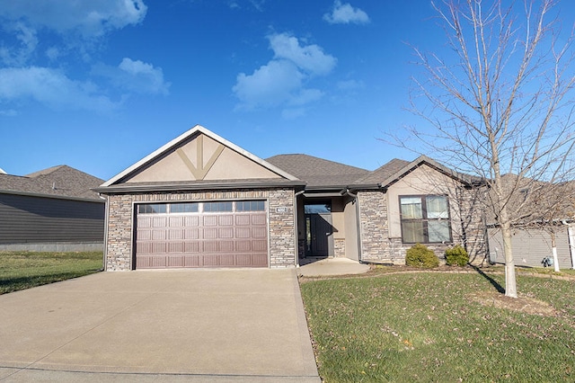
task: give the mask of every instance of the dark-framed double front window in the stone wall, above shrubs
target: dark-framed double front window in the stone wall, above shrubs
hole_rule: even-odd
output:
[[[399,203],[404,244],[451,242],[447,196],[400,196]]]

